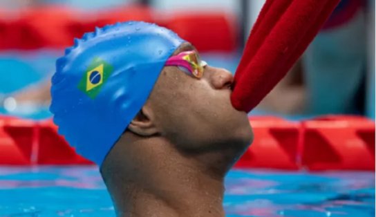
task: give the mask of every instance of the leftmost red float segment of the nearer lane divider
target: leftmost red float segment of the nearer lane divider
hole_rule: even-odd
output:
[[[34,122],[0,117],[0,164],[32,164]]]

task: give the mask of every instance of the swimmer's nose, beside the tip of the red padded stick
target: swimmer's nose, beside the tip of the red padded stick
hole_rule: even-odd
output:
[[[224,68],[206,66],[204,76],[207,77],[210,84],[216,89],[230,88],[232,82],[234,82],[232,73]]]

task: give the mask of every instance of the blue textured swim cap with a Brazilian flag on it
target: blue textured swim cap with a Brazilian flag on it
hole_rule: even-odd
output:
[[[182,44],[152,23],[117,23],[75,39],[56,62],[50,111],[77,153],[102,165]]]

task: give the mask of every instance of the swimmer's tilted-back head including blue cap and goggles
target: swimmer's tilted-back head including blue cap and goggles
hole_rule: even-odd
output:
[[[185,51],[197,57],[168,64]],[[109,152],[129,158],[142,141],[168,142],[187,158],[228,153],[234,162],[252,139],[247,114],[230,102],[231,73],[207,65],[194,76],[189,66],[200,64],[194,46],[154,24],[88,33],[57,62],[50,110],[59,133],[100,166]]]

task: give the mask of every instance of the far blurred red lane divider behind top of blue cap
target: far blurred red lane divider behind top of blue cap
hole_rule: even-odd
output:
[[[12,17],[10,19],[10,17]],[[175,30],[200,51],[234,51],[236,20],[224,12],[157,14],[152,8],[126,6],[101,12],[82,12],[62,6],[23,10],[19,15],[0,10],[0,49],[66,48],[95,27],[124,21],[158,23]]]

